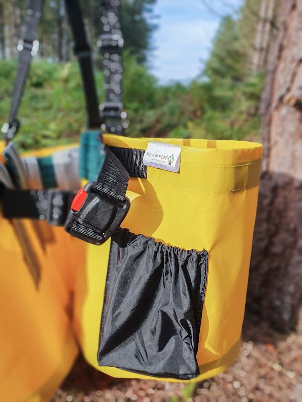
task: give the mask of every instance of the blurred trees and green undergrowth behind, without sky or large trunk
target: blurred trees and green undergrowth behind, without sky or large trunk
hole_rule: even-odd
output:
[[[237,12],[230,8],[232,16],[222,18],[210,57],[203,65],[200,62],[200,73],[195,79],[187,83],[171,81],[165,85],[158,82],[149,68],[154,50],[152,34],[160,23],[156,16],[152,18],[155,2],[122,1],[125,40],[123,91],[130,123],[127,135],[259,138],[258,103],[265,60],[255,63],[255,57],[261,46],[269,46],[268,40],[266,44],[259,43],[258,48],[255,44],[260,0],[243,2]],[[83,2],[82,9],[102,102],[101,55],[96,46],[100,28],[99,1]],[[2,0],[0,3],[2,122],[7,119],[11,102],[16,48],[24,12],[24,0]],[[267,23],[267,38],[274,28],[276,14],[277,7],[274,7],[271,22]],[[72,37],[63,0],[46,2],[39,40],[39,55],[33,62],[19,114],[22,130],[16,136],[16,145],[21,150],[71,142],[78,139],[79,130],[85,129],[81,77],[73,57]],[[265,49],[262,53],[266,54]]]

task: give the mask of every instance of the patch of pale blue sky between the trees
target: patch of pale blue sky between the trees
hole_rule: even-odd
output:
[[[241,0],[157,0],[158,29],[149,65],[159,81],[188,81],[197,76],[209,56],[221,16],[235,12],[241,4]]]

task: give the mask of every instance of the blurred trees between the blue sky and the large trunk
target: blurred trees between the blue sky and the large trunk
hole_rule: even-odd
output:
[[[280,0],[245,0],[236,17],[226,15],[205,64],[211,80],[241,82],[264,71]]]

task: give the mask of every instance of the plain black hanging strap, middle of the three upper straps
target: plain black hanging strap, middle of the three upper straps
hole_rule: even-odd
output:
[[[77,56],[86,99],[88,128],[99,128],[101,118],[95,79],[91,48],[87,42],[82,13],[78,0],[65,0],[69,23],[74,37],[74,54]]]

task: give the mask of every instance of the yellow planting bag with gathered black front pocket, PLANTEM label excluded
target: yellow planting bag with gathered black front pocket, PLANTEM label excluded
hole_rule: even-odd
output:
[[[104,135],[114,149],[148,139]],[[87,245],[74,325],[87,361],[114,377],[200,381],[236,358],[244,316],[262,146],[181,146],[179,172],[130,177],[122,229]]]

